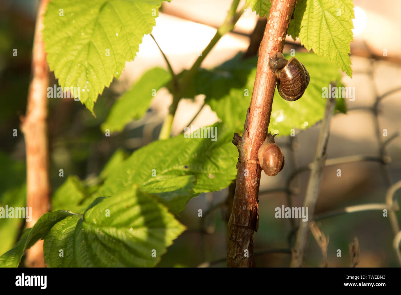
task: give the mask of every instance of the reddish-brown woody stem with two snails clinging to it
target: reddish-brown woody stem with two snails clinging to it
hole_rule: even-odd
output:
[[[238,148],[239,158],[233,211],[228,224],[230,235],[227,267],[253,266],[253,232],[258,227],[257,203],[261,174],[257,152],[266,138],[276,82],[268,62],[270,56],[281,52],[284,47],[294,6],[295,0],[272,2],[259,49],[255,84],[245,119],[244,133],[242,137],[234,135],[233,143]]]

